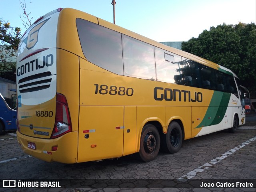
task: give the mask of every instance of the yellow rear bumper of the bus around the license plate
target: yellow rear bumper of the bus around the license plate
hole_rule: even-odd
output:
[[[40,139],[22,135],[17,131],[18,143],[22,150],[31,156],[47,162],[76,163],[78,149],[78,132],[73,131],[56,139]],[[36,149],[28,148],[28,142],[36,144]],[[52,151],[53,146],[58,146]]]

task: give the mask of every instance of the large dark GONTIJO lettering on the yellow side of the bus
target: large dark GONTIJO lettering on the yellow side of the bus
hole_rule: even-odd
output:
[[[203,94],[201,92],[194,92],[179,89],[170,89],[163,87],[154,88],[154,99],[156,101],[188,101],[188,102],[199,102],[203,101]]]

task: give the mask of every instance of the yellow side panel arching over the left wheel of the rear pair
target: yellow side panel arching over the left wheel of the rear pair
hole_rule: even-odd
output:
[[[167,126],[165,125],[165,116],[166,116],[166,107],[153,107],[153,106],[145,106],[145,107],[137,107],[137,133],[138,135],[136,144],[136,152],[140,150],[140,136],[144,125],[149,121],[158,121],[162,127],[162,133],[167,131]]]

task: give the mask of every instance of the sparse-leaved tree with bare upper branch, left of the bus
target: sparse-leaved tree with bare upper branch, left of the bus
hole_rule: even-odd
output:
[[[24,16],[22,24],[26,29],[31,25],[30,13],[26,13],[26,4],[20,1]],[[0,74],[2,77],[16,81],[16,62],[12,57],[17,57],[18,45],[22,37],[21,28],[12,27],[8,21],[0,18]]]

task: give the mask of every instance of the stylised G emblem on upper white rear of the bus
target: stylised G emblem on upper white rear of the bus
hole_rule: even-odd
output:
[[[22,42],[24,42],[24,44],[26,44],[27,49],[31,49],[36,45],[36,43],[38,41],[39,30],[49,19],[50,18],[48,18],[47,20],[44,20],[43,22],[37,24],[36,26],[34,26],[30,30],[30,32],[28,33],[28,36],[22,41]]]

